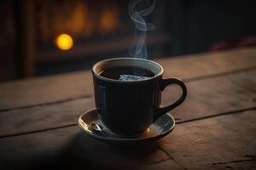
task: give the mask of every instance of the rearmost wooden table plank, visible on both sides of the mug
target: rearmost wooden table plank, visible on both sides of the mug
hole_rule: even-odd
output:
[[[256,66],[256,48],[242,48],[212,54],[194,54],[157,60],[165,77],[185,80],[240,71]],[[0,84],[0,110],[92,96],[90,71],[38,77]]]

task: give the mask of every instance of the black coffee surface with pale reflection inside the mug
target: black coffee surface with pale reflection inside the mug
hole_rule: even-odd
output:
[[[102,71],[100,76],[120,81],[140,81],[154,77],[154,73],[137,66],[117,66]]]

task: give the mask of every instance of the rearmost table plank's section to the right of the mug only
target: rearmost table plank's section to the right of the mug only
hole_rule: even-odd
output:
[[[183,57],[158,59],[157,62],[165,69],[165,77],[191,80],[255,67],[256,48],[189,54]]]

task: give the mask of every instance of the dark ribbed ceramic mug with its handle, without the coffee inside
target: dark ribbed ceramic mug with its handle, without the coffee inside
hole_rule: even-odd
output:
[[[124,82],[100,75],[102,71],[116,66],[142,67],[152,71],[154,77]],[[119,135],[137,135],[143,133],[158,117],[181,105],[187,95],[186,86],[177,78],[163,79],[163,73],[161,65],[148,59],[106,59],[93,65],[96,109],[104,125]],[[183,94],[172,105],[163,107],[161,93],[170,84],[180,86]]]

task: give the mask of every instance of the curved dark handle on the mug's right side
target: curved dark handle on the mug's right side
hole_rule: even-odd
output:
[[[186,99],[187,96],[187,88],[183,81],[177,78],[166,78],[162,79],[160,82],[160,90],[163,91],[168,85],[177,84],[180,88],[182,88],[183,94],[174,102],[172,105],[167,105],[165,107],[161,106],[157,111],[154,113],[154,122],[162,115],[166,114],[168,111],[176,108],[178,105],[181,105],[183,101]]]

